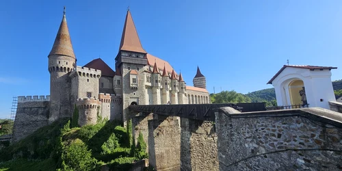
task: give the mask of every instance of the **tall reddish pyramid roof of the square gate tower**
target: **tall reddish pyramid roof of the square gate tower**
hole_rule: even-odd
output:
[[[142,48],[139,36],[137,36],[137,30],[135,29],[129,9],[127,10],[126,21],[124,21],[124,30],[122,31],[119,50],[146,53]]]

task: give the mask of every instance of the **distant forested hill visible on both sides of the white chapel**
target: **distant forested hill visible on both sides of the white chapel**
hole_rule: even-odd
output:
[[[334,88],[334,91],[342,90],[342,80],[332,81],[332,87]],[[252,102],[276,100],[276,92],[274,91],[274,88],[249,92],[245,95],[248,96]]]

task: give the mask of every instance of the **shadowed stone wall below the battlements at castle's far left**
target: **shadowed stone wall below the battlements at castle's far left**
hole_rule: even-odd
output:
[[[18,103],[13,127],[13,142],[21,140],[49,123],[49,101]]]

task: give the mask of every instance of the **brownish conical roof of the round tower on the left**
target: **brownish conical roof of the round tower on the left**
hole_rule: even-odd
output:
[[[58,29],[57,36],[55,38],[55,42],[53,43],[53,47],[51,49],[50,55],[66,55],[69,57],[75,57],[73,44],[71,43],[70,34],[68,25],[66,24],[66,14],[65,14],[65,6],[63,11],[63,18],[60,25],[60,29]]]

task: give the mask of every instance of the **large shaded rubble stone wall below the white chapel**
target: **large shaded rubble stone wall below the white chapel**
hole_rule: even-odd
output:
[[[215,124],[220,170],[342,169],[342,116],[337,112],[217,112]]]

